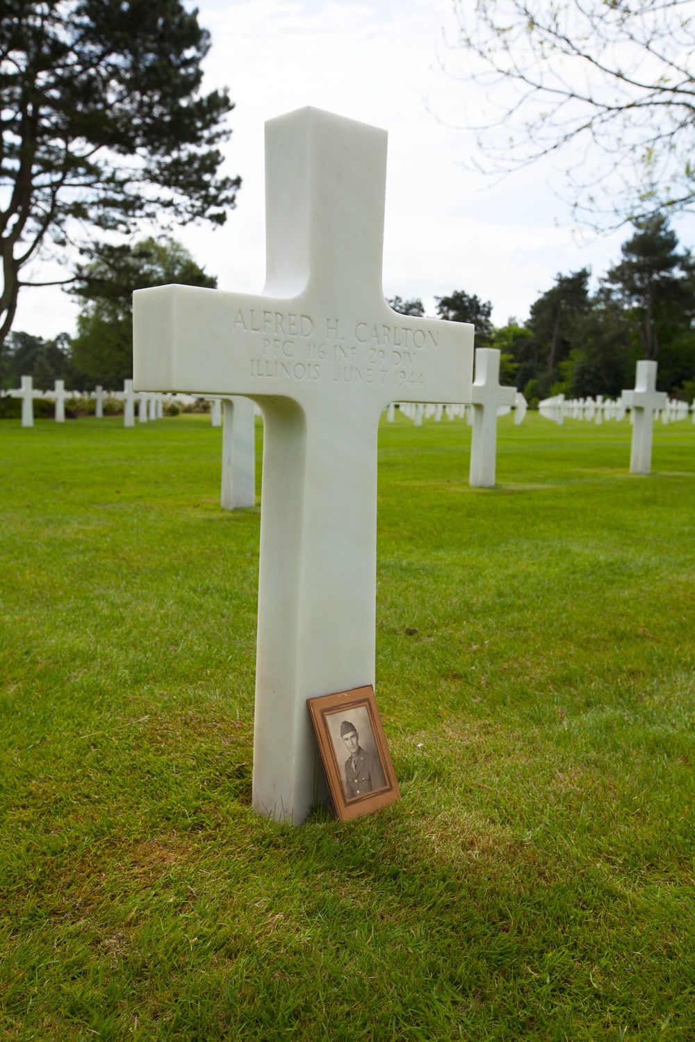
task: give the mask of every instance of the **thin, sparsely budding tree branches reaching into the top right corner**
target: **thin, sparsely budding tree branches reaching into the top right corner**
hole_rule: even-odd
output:
[[[468,76],[494,105],[474,126],[483,169],[565,154],[595,226],[694,208],[692,0],[455,2]]]

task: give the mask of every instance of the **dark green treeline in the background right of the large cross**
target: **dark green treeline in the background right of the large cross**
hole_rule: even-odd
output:
[[[681,250],[666,218],[635,222],[622,256],[590,289],[589,268],[557,275],[531,304],[528,319],[495,327],[492,303],[456,291],[436,297],[437,314],[475,325],[476,347],[501,350],[501,377],[540,398],[618,397],[635,382],[635,363],[659,363],[659,390],[695,398],[695,262]],[[424,315],[420,300],[396,297],[391,305]]]

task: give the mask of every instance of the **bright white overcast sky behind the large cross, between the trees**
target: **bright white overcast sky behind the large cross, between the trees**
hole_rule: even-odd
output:
[[[478,89],[443,69],[456,63],[451,0],[199,0],[198,7],[213,40],[203,88],[228,86],[235,102],[225,172],[240,174],[243,185],[223,228],[177,234],[220,289],[263,288],[264,122],[303,105],[389,131],[388,297],[421,297],[431,314],[435,295],[465,290],[492,301],[502,325],[510,316],[523,321],[557,272],[588,266],[598,275],[618,257],[627,232],[582,245],[549,188],[549,166],[495,187],[465,168],[474,142],[460,128],[476,110]],[[676,224],[688,245],[692,223]],[[61,270],[45,263],[32,274],[61,277]],[[15,328],[74,332],[75,315],[60,290],[29,289]]]

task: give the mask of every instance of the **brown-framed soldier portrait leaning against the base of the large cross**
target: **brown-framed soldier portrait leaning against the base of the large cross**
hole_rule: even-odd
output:
[[[374,689],[307,698],[336,817],[349,821],[400,799]]]

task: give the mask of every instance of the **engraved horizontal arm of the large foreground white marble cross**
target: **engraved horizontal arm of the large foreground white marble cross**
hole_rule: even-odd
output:
[[[166,286],[133,294],[133,324],[138,391],[308,404],[359,389],[377,410],[470,401],[473,326],[399,315],[386,300],[337,316],[304,295]]]

